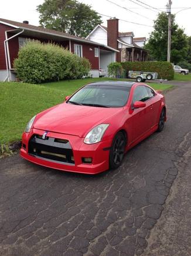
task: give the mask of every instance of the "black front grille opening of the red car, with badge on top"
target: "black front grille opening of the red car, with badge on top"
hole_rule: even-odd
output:
[[[43,139],[40,135],[33,135],[29,140],[28,153],[52,162],[74,164],[73,151],[67,139],[52,137]]]

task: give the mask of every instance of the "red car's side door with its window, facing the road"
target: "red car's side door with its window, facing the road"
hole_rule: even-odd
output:
[[[135,88],[131,106],[135,101],[142,101],[145,102],[146,107],[132,109],[131,111],[132,142],[142,137],[152,127],[153,102],[149,99],[145,85],[139,85]]]

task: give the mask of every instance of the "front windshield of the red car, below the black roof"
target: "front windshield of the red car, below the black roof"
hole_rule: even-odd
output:
[[[86,85],[74,94],[67,103],[92,107],[123,107],[131,88],[119,85]]]

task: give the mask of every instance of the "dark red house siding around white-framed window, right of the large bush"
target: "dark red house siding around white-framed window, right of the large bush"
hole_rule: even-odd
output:
[[[71,41],[71,52],[74,53],[74,44],[83,46],[83,57],[87,58],[91,63],[91,69],[99,69],[99,58],[94,56],[94,48],[98,48],[97,45],[82,44],[81,42]],[[92,51],[91,51],[92,49]]]

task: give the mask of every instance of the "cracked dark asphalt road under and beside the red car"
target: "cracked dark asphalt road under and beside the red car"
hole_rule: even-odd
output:
[[[190,95],[191,84],[166,94],[164,131],[131,149],[115,171],[87,176],[39,167],[19,155],[2,159],[0,255],[171,255],[160,248],[162,225],[189,166]],[[186,173],[189,178],[189,168]],[[189,204],[180,197],[177,204],[185,207],[179,220],[185,212],[188,220]],[[173,235],[172,225],[165,239],[169,230]]]

